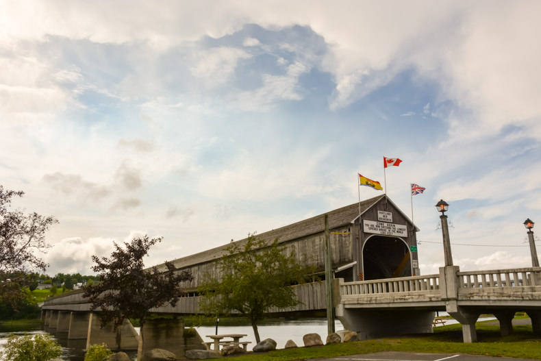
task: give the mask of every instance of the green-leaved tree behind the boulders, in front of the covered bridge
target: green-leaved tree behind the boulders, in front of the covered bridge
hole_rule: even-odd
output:
[[[231,242],[227,255],[218,260],[219,275],[205,274],[199,290],[207,314],[241,314],[249,319],[257,343],[260,323],[272,307],[295,306],[299,300],[290,287],[306,281],[314,272],[308,262],[298,262],[294,250],[278,240],[270,244],[249,235],[247,242]]]

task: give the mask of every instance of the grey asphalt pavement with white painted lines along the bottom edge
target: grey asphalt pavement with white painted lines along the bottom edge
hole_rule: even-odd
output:
[[[315,358],[312,361],[531,361],[524,358],[499,358],[462,353],[377,352],[363,355]]]

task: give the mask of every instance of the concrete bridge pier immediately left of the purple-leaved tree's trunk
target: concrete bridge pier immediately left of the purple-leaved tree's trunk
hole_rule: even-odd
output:
[[[90,345],[105,343],[110,349],[136,350],[139,345],[139,334],[134,326],[126,319],[123,324],[114,329],[113,325],[101,327],[101,318],[91,313],[88,321],[86,348]]]

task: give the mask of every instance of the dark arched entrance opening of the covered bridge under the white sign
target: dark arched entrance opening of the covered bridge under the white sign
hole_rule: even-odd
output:
[[[364,243],[362,262],[367,281],[412,275],[410,249],[400,238],[370,237]]]

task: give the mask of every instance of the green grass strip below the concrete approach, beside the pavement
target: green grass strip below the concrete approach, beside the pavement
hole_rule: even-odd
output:
[[[290,361],[310,358],[373,353],[381,351],[406,351],[425,353],[468,353],[473,355],[541,359],[541,338],[531,332],[531,325],[513,327],[513,334],[500,336],[498,326],[477,324],[477,343],[462,342],[462,326],[437,327],[434,334],[401,338],[378,338],[375,340],[340,343],[320,347],[299,347],[268,353],[249,353],[228,358],[228,361]]]

